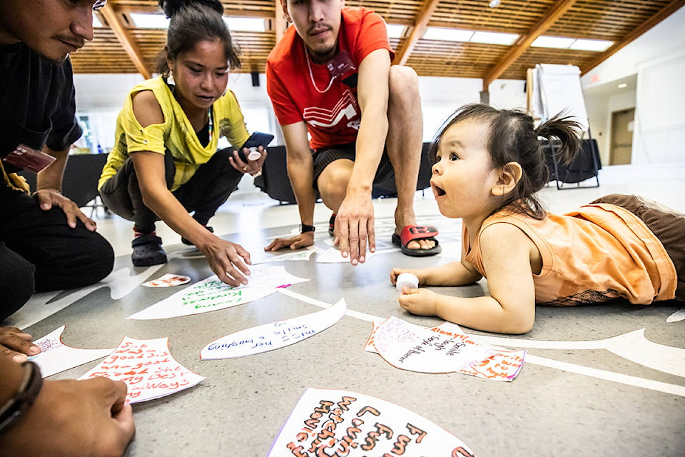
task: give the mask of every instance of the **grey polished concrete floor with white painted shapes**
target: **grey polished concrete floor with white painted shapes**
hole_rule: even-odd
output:
[[[624,193],[685,212],[685,166],[605,167],[599,179],[599,188],[544,189],[549,208],[565,211],[597,196]],[[151,321],[126,317],[178,288],[145,288],[140,286],[143,281],[163,273],[201,281],[211,271],[194,248],[181,244],[180,236],[163,224],[158,224],[158,234],[170,261],[134,268],[129,258],[131,223],[98,210],[93,216],[116,250],[116,281],[37,294],[10,323],[34,338],[66,324],[64,343],[81,348],[114,347],[123,336],[168,336],[173,357],[205,376],[186,391],[134,405],[137,435],[128,456],[265,456],[308,387],[355,391],[403,406],[442,426],[481,457],[685,455],[681,303],[542,307],[533,330],[524,336],[465,328],[482,343],[527,348],[522,371],[510,383],[459,373],[402,371],[363,351],[374,317],[397,316],[422,326],[440,323],[411,316],[397,305],[397,291],[388,281],[390,268],[436,265],[459,255],[460,222],[440,215],[430,190],[417,193],[415,209],[421,224],[440,229],[440,256],[409,258],[392,249],[394,208],[395,199],[375,201],[379,248],[389,251],[361,266],[318,263],[319,254],[309,261],[273,263],[310,281],[290,286],[294,295],[274,293],[242,306]],[[330,211],[317,204],[315,241],[323,249],[331,243],[329,216]],[[211,224],[215,233],[242,243],[259,261],[272,256],[263,253],[270,239],[295,233],[299,217],[295,206],[280,206],[243,181]],[[477,296],[487,293],[487,286],[481,281],[443,291]],[[317,301],[335,303],[340,298],[345,298],[347,315],[312,338],[253,356],[200,361],[201,348],[220,336],[319,311]],[[97,363],[54,378],[77,378]]]

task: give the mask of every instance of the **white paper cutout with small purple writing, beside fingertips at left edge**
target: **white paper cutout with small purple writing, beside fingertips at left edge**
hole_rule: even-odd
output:
[[[97,358],[106,357],[112,353],[114,348],[108,349],[81,349],[66,346],[62,343],[62,332],[66,326],[61,326],[48,333],[43,338],[34,341],[40,346],[41,353],[29,357],[41,367],[41,375],[44,378],[52,376],[75,366],[83,365]]]

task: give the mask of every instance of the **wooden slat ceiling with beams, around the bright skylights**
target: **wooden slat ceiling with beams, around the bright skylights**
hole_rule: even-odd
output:
[[[280,0],[223,1],[226,16],[265,19],[265,32],[233,32],[242,51],[242,68],[263,73],[269,51],[283,33]],[[586,73],[609,56],[666,19],[685,0],[374,0],[345,2],[365,6],[388,24],[405,26],[400,39],[391,39],[395,63],[411,66],[420,76],[483,79],[525,79],[535,64],[573,64]],[[98,12],[103,23],[95,39],[72,54],[76,73],[141,73],[156,69],[166,30],[136,29],[128,14],[159,13],[156,0],[108,0]],[[430,26],[519,34],[511,46],[423,39]],[[602,39],[614,45],[603,52],[530,47],[540,35]]]

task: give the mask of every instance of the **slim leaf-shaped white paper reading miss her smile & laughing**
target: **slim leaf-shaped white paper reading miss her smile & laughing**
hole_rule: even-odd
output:
[[[323,311],[231,333],[202,348],[200,358],[216,360],[243,357],[290,346],[333,326],[345,314],[345,309],[347,305],[341,299]]]

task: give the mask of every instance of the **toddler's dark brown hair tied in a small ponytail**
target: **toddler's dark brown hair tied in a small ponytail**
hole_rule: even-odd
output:
[[[534,219],[543,219],[546,211],[535,193],[549,182],[549,170],[544,161],[539,137],[555,146],[561,144],[559,151],[555,150],[557,159],[564,164],[570,164],[580,149],[582,126],[572,121],[571,116],[559,113],[535,128],[532,117],[522,111],[499,110],[487,105],[470,104],[457,109],[438,131],[428,153],[433,163],[440,140],[447,129],[467,119],[482,122],[487,126],[487,150],[493,169],[509,162],[518,162],[523,171],[514,190],[504,196],[495,211],[510,205],[518,213],[527,214]]]

